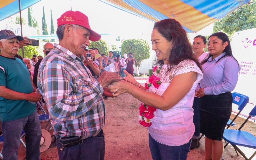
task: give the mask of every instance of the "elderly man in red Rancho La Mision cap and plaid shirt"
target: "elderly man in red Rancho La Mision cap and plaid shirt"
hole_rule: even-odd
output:
[[[86,15],[67,11],[57,22],[59,44],[41,61],[38,88],[49,110],[59,159],[104,159],[103,88],[121,77],[103,72],[95,80],[84,66],[89,40],[101,38],[90,28]]]

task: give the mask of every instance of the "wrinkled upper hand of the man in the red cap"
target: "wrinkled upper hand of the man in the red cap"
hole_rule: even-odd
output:
[[[120,81],[122,77],[114,72],[102,72],[100,77],[97,79],[97,81],[100,83],[100,85],[105,88],[111,83],[112,81]]]

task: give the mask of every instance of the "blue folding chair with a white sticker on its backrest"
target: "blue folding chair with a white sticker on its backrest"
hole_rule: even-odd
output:
[[[236,125],[236,123],[234,123],[234,121],[236,120],[238,115],[241,113],[241,111],[244,109],[246,104],[249,102],[249,97],[248,96],[237,93],[237,92],[233,92],[232,97],[233,97],[233,103],[238,105],[239,112],[237,113],[237,115],[234,117],[234,119],[232,121],[230,119],[228,120],[227,129],[230,126]]]

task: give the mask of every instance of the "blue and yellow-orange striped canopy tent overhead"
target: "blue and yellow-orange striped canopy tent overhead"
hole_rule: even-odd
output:
[[[1,0],[0,21],[21,12],[21,10],[39,1],[41,0]],[[99,1],[153,22],[166,18],[176,19],[188,33],[197,32],[250,2],[250,0]]]

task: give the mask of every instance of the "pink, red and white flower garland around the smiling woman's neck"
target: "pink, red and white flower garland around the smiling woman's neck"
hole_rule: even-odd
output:
[[[160,67],[158,64],[153,68],[153,74],[150,76],[148,81],[145,83],[145,88],[149,89],[149,87],[154,87],[156,89],[159,88],[161,85],[160,78],[157,77],[160,73],[162,67]],[[144,127],[150,127],[152,125],[152,122],[150,119],[154,117],[154,112],[156,111],[156,108],[148,106],[144,103],[141,103],[140,106],[140,115],[139,115],[139,123],[143,125]]]

